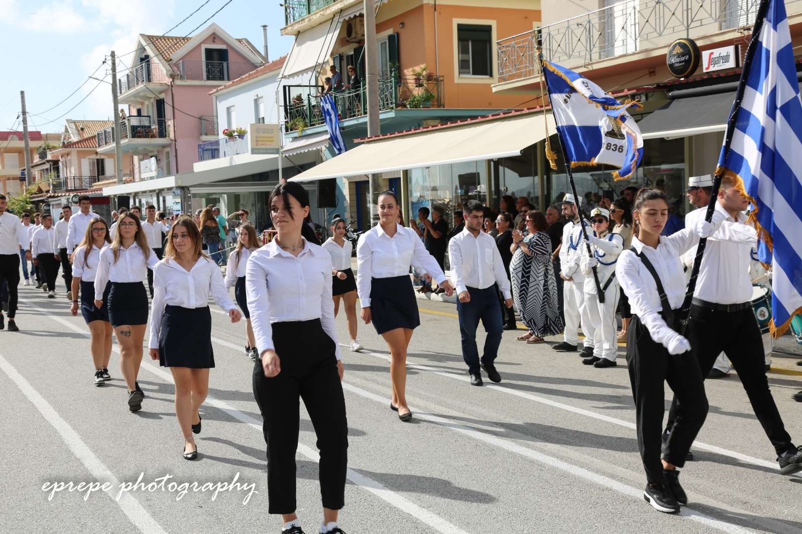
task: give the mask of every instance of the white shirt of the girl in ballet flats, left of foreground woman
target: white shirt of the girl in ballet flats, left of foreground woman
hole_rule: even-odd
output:
[[[229,292],[225,290],[220,267],[214,261],[201,256],[189,270],[181,267],[172,258],[165,257],[159,261],[153,267],[153,303],[148,347],[159,348],[164,306],[205,308],[209,305],[209,295],[225,311],[237,309]]]

